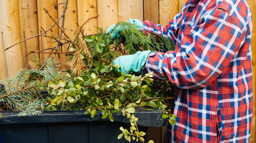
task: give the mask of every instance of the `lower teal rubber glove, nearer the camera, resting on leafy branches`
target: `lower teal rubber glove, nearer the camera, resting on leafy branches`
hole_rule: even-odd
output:
[[[150,53],[151,51],[147,50],[142,52],[138,51],[133,55],[119,56],[113,61],[113,64],[120,65],[120,68],[118,68],[117,71],[123,71],[126,75],[132,71],[142,73],[141,69]]]

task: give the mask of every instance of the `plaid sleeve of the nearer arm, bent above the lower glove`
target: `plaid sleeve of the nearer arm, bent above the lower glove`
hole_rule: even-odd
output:
[[[170,37],[177,37],[171,29]],[[185,26],[176,51],[149,54],[142,73],[153,71],[154,77],[169,79],[180,88],[206,87],[230,66],[244,35],[229,13],[214,9],[197,26]]]

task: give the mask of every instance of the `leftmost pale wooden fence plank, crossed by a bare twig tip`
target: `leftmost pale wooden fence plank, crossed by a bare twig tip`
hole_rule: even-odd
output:
[[[11,78],[23,68],[20,44],[4,51],[20,41],[18,1],[3,0],[0,3],[0,80]]]

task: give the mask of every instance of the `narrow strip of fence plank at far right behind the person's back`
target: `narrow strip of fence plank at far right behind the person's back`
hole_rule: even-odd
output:
[[[251,48],[252,48],[252,79],[256,78],[256,36],[255,36],[255,26],[256,26],[256,2],[255,0],[248,0],[249,6],[251,8],[252,13],[252,38],[251,38]],[[256,81],[253,80],[252,82],[252,88],[256,89]],[[251,143],[256,142],[256,92],[255,90],[252,90],[253,92],[253,117],[252,117],[252,127],[251,127]]]

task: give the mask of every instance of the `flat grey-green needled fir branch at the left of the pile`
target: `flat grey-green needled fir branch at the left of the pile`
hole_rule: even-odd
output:
[[[5,84],[5,90],[0,92],[0,101],[20,111],[18,116],[41,114],[43,111],[38,109],[42,103],[41,90],[48,86],[49,81],[63,77],[58,71],[58,62],[52,58],[46,62],[47,66],[42,71],[25,68],[15,78],[1,81]]]

